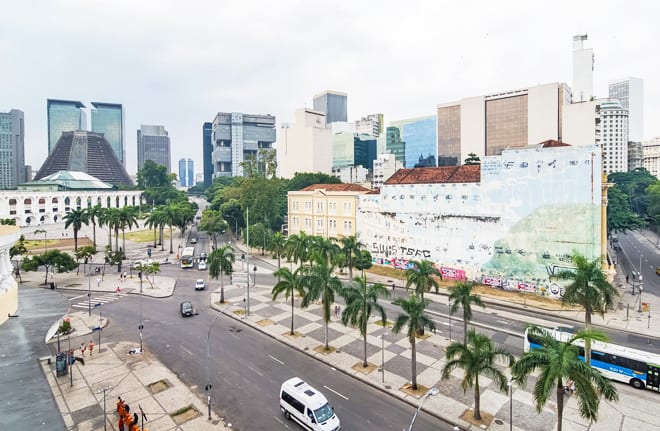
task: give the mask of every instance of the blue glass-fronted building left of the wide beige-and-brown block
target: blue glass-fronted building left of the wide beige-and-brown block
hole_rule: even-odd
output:
[[[406,143],[405,168],[436,166],[438,129],[435,116],[391,121],[390,127],[397,127]]]

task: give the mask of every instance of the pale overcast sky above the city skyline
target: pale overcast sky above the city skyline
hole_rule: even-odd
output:
[[[164,125],[172,170],[202,171],[217,112],[275,115],[331,89],[348,119],[434,115],[439,103],[572,81],[588,34],[594,94],[644,80],[644,138],[660,136],[660,2],[441,0],[23,0],[0,11],[0,112],[25,114],[26,163],[47,156],[46,99],[124,105],[127,169],[137,129]],[[89,124],[89,122],[88,122]]]

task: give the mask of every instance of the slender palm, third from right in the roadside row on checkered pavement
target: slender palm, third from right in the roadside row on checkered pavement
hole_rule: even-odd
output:
[[[424,299],[417,294],[412,294],[408,298],[397,298],[392,302],[403,310],[403,314],[394,321],[392,332],[398,334],[404,326],[408,327],[406,334],[411,347],[412,360],[412,389],[417,390],[417,348],[415,345],[417,334],[424,328],[435,330],[435,324],[430,317],[424,313],[424,309],[429,305],[428,299]]]

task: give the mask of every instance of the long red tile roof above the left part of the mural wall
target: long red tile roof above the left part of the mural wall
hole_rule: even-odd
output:
[[[399,169],[385,184],[478,183],[481,165]]]

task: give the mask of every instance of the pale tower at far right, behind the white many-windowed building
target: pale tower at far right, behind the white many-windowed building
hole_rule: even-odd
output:
[[[628,139],[641,142],[644,139],[644,81],[640,78],[624,78],[609,84],[610,99],[619,99],[628,110]]]

